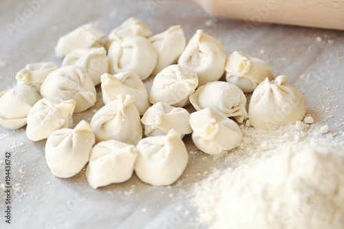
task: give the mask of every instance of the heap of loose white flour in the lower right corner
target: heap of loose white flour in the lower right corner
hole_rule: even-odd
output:
[[[212,229],[342,228],[344,143],[319,125],[304,128],[242,129],[228,168],[195,187],[200,221]]]

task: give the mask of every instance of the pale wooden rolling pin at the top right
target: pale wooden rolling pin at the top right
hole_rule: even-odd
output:
[[[193,0],[216,17],[344,30],[343,0]]]

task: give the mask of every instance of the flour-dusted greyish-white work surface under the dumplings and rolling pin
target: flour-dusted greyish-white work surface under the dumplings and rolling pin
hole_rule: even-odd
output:
[[[128,17],[138,17],[153,34],[179,24],[189,40],[202,29],[224,45],[226,54],[241,50],[264,59],[275,76],[288,76],[288,82],[302,92],[307,113],[316,122],[343,133],[342,31],[217,19],[189,1],[32,2],[36,5],[0,0],[0,91],[15,85],[15,75],[27,63],[54,61],[61,65],[61,58],[54,56],[56,42],[79,25],[95,21],[109,34]],[[96,105],[75,114],[74,125],[81,119],[89,121],[94,109],[103,106],[100,87],[97,91]],[[0,127],[0,160],[6,151],[12,152],[15,184],[12,227],[1,214],[0,228],[207,228],[197,222],[197,208],[191,202],[193,188],[206,172],[228,164],[197,151],[189,135],[185,142],[189,164],[175,184],[154,187],[133,174],[128,182],[94,190],[87,184],[85,171],[69,179],[50,173],[45,140],[31,142],[25,128],[11,131]],[[240,157],[233,156],[234,160]],[[0,184],[4,182],[4,166],[2,163]],[[2,212],[3,193],[0,201]]]

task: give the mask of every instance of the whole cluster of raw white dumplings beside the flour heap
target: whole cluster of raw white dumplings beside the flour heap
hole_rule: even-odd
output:
[[[32,141],[47,138],[45,157],[56,177],[72,177],[88,163],[92,188],[125,182],[133,171],[153,186],[173,184],[188,163],[184,135],[217,155],[241,143],[238,123],[276,129],[305,116],[305,100],[286,76],[273,80],[264,61],[244,52],[226,56],[202,30],[186,44],[180,25],[152,36],[131,17],[105,41],[89,23],[58,39],[55,52],[62,67],[28,64],[17,86],[0,93],[0,124],[27,125]],[[73,113],[94,106],[98,85],[104,107],[71,129]],[[183,108],[190,103],[193,113]]]

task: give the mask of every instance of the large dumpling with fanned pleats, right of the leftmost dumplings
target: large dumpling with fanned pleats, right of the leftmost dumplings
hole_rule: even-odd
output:
[[[96,102],[96,87],[85,69],[70,65],[51,72],[41,86],[43,98],[73,99],[75,113],[85,111]]]

